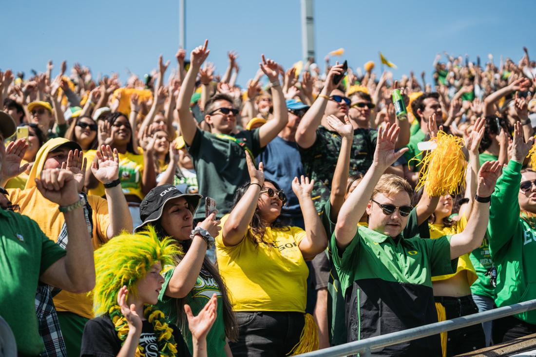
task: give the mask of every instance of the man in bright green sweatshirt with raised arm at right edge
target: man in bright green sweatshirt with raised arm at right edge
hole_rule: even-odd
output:
[[[524,143],[523,124],[514,124],[512,159],[492,195],[489,254],[497,269],[495,304],[508,306],[536,299],[536,172],[523,169],[534,139]],[[493,322],[494,343],[536,333],[536,311]]]

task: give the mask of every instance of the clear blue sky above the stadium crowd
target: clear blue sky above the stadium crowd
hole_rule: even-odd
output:
[[[186,0],[186,47],[209,39],[209,61],[223,73],[226,53],[239,53],[238,83],[258,68],[260,54],[285,68],[301,59],[299,0]],[[31,10],[31,13],[28,11]],[[395,77],[414,70],[430,72],[436,53],[470,55],[483,62],[492,53],[516,62],[527,46],[536,58],[536,1],[319,1],[315,0],[317,62],[329,51],[345,48],[343,59],[356,68],[378,51],[398,65]],[[48,59],[57,74],[63,59],[98,73],[126,69],[143,76],[157,66],[158,55],[171,59],[178,48],[178,0],[12,1],[2,4],[3,44],[0,69],[44,71]]]

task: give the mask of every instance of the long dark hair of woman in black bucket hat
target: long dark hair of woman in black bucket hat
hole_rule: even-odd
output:
[[[169,236],[169,234],[160,224],[160,220],[154,222],[153,227],[155,231],[157,232],[158,237],[160,239],[164,239],[164,237]],[[188,239],[185,241],[175,240],[175,242],[177,242],[177,244],[182,248],[182,251],[184,253],[188,251],[188,249],[190,248],[192,244],[191,239]],[[184,255],[174,256],[173,259],[175,261],[175,266],[180,264],[183,258],[184,258]],[[216,281],[216,284],[218,284],[218,287],[220,288],[221,300],[223,302],[223,310],[224,310],[225,336],[230,341],[236,341],[236,339],[238,338],[238,324],[236,323],[236,317],[233,311],[233,306],[229,301],[229,296],[227,295],[227,286],[225,285],[224,280],[221,279],[218,268],[215,267],[214,264],[212,264],[212,262],[206,255],[203,258],[202,268],[211,274],[212,278],[214,278],[214,280]],[[175,300],[176,300],[175,309],[177,310],[176,324],[181,329],[181,331],[184,331],[184,329],[188,329],[188,319],[186,317],[186,314],[184,313],[184,304],[186,303],[186,298],[177,298]]]

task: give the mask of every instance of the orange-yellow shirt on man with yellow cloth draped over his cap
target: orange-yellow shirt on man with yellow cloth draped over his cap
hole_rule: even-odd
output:
[[[59,232],[65,218],[59,212],[58,205],[50,202],[41,195],[34,186],[26,190],[10,189],[9,198],[13,204],[20,205],[20,213],[36,221],[44,232],[54,242],[57,242]],[[87,196],[87,201],[93,210],[93,249],[99,248],[108,241],[108,203],[106,199]],[[70,311],[77,315],[93,318],[93,300],[87,294],[75,294],[61,291],[54,296],[54,304],[58,311]]]

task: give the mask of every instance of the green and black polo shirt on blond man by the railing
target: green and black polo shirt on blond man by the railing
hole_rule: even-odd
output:
[[[346,249],[330,241],[346,301],[347,340],[355,341],[437,322],[431,277],[452,274],[450,236],[383,235],[360,226]],[[438,335],[385,347],[388,355],[438,355]]]

